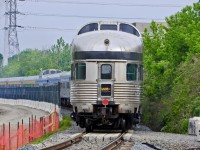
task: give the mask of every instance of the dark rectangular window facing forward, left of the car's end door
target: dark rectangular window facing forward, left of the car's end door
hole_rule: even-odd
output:
[[[86,64],[77,63],[76,64],[76,79],[85,80],[86,78]]]

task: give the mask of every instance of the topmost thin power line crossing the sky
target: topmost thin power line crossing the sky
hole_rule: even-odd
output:
[[[80,4],[80,5],[101,5],[101,6],[122,6],[122,7],[184,7],[182,5],[171,4],[133,4],[133,3],[107,3],[107,2],[81,2],[81,1],[49,1],[49,0],[20,0],[29,2],[61,3],[61,4]]]

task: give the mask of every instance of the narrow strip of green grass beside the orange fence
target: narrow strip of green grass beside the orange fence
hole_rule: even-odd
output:
[[[72,125],[71,118],[64,115],[63,119],[59,122],[59,129],[57,131],[52,131],[43,135],[42,137],[32,141],[32,144],[39,144],[43,142],[44,140],[48,139],[51,135],[68,129],[69,127],[71,127],[71,125]]]

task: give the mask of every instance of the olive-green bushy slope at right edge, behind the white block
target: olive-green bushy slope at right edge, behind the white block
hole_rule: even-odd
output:
[[[171,101],[166,101],[168,121],[163,131],[187,132],[186,120],[191,116],[200,116],[200,55],[193,56],[178,69],[174,80]],[[173,128],[172,128],[173,127]]]

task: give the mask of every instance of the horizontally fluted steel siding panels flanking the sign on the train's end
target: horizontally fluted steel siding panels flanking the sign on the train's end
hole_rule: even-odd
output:
[[[142,87],[133,83],[115,83],[115,102],[140,102]],[[98,97],[97,83],[76,83],[71,86],[71,102],[96,102]]]

